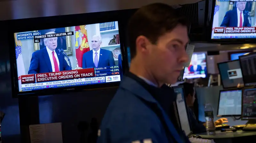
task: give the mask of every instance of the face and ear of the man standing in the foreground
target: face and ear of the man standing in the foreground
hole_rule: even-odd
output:
[[[171,32],[160,36],[156,45],[148,45],[149,52],[145,60],[156,80],[170,84],[177,82],[183,63],[188,61],[188,40],[187,27],[177,25]]]

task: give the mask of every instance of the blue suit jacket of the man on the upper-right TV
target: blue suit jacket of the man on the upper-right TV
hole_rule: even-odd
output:
[[[251,24],[248,19],[248,14],[245,11],[243,11],[243,14],[244,14],[243,27],[250,27]],[[227,11],[220,26],[221,27],[237,27],[237,25],[238,25],[237,9]]]

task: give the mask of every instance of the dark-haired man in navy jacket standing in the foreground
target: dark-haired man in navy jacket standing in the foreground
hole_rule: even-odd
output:
[[[188,61],[188,23],[171,6],[150,4],[131,17],[130,72],[123,76],[98,132],[98,143],[184,143],[170,103]]]

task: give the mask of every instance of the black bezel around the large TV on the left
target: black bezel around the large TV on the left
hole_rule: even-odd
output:
[[[9,44],[9,52],[10,52],[10,65],[11,65],[11,80],[12,80],[12,97],[30,97],[30,96],[43,96],[43,95],[54,95],[60,94],[62,92],[75,92],[75,91],[83,91],[83,90],[94,90],[94,89],[106,89],[106,88],[117,88],[120,82],[110,82],[110,83],[102,83],[102,84],[93,84],[93,85],[84,85],[84,86],[72,86],[66,88],[57,88],[57,89],[42,89],[42,90],[33,90],[33,91],[19,91],[18,84],[18,72],[16,66],[16,56],[15,56],[15,46],[14,46],[14,36],[15,32],[26,32],[26,31],[34,31],[34,30],[44,30],[51,28],[59,28],[59,27],[70,27],[75,25],[90,25],[96,23],[104,23],[111,21],[118,21],[118,30],[120,34],[120,48],[122,53],[122,67],[123,74],[125,73],[128,67],[128,59],[127,59],[127,49],[126,49],[126,41],[125,41],[125,27],[123,28],[124,22],[127,21],[120,15],[122,13],[127,13],[128,10],[120,10],[120,11],[106,11],[106,12],[95,12],[95,13],[85,13],[85,14],[74,14],[74,15],[64,15],[64,16],[53,16],[53,17],[42,17],[42,18],[27,18],[27,19],[16,19],[16,20],[8,20],[8,44]],[[130,10],[135,11],[135,10]],[[129,12],[130,12],[129,11]],[[84,21],[84,18],[92,19],[88,21]],[[95,18],[95,17],[101,17]],[[17,25],[19,23],[19,25]]]

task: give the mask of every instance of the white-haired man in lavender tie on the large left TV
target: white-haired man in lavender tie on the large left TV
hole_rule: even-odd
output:
[[[92,50],[83,55],[83,68],[100,68],[107,66],[115,66],[113,53],[109,50],[100,48],[101,37],[92,36]]]

